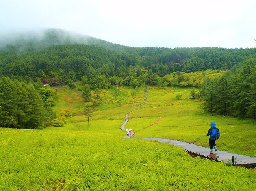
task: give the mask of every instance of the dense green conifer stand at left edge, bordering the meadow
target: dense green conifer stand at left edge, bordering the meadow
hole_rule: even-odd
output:
[[[0,127],[39,129],[53,114],[47,103],[32,83],[0,77]]]

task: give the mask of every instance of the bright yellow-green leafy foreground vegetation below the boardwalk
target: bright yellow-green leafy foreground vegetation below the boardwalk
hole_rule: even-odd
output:
[[[117,124],[113,124],[115,126]],[[256,173],[113,128],[0,129],[0,190],[252,190]],[[232,176],[231,176],[232,175]]]

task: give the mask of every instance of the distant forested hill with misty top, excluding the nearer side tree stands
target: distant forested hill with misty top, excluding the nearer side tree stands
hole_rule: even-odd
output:
[[[125,79],[147,72],[163,77],[173,71],[230,69],[256,57],[256,48],[136,48],[60,29],[23,33],[0,42],[0,75],[31,78],[67,75],[63,83],[69,78],[80,80],[83,75]]]

